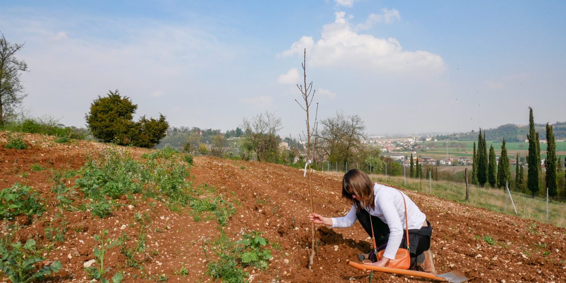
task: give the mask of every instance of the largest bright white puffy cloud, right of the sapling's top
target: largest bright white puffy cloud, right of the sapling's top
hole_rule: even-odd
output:
[[[389,19],[395,18],[394,12],[389,14],[393,15]],[[336,12],[335,22],[323,26],[320,40],[312,46],[308,56],[311,66],[350,67],[385,73],[418,72],[427,75],[445,69],[445,63],[439,55],[422,50],[403,50],[400,42],[392,37],[377,38],[355,32],[345,16],[345,12]],[[302,57],[303,50],[297,46],[310,42],[306,38],[312,40],[312,37],[303,36],[283,54],[300,54]]]

